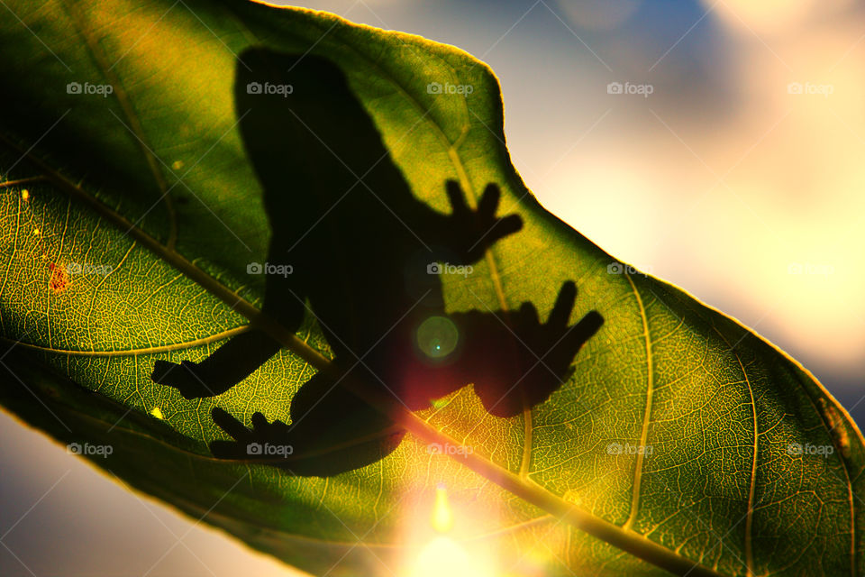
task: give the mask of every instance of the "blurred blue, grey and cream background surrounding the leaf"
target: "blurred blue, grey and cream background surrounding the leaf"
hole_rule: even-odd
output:
[[[778,344],[865,425],[861,3],[306,6],[486,61],[501,80],[514,165],[542,205]],[[0,435],[0,574],[299,574],[132,494],[5,414]],[[112,554],[94,555],[94,544]]]

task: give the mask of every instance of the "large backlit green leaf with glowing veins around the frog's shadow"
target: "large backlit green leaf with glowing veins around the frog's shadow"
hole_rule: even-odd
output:
[[[616,274],[614,259],[545,212],[508,159],[499,87],[483,63],[240,0],[6,4],[9,410],[63,443],[111,444],[94,463],[318,574],[402,572],[434,535],[439,484],[453,538],[497,573],[865,571],[863,444],[847,413],[759,336],[660,280]],[[605,324],[549,401],[491,417],[465,387],[401,413],[410,433],[396,452],[326,479],[210,455],[207,443],[224,438],[211,408],[247,424],[255,411],[287,420],[296,389],[330,370],[317,325],[295,335],[268,324],[263,285],[246,274],[269,239],[232,102],[236,55],[251,46],[335,62],[429,206],[449,210],[446,179],[469,202],[501,185],[499,214],[518,213],[524,229],[468,279],[445,279],[445,298],[451,311],[532,301],[545,317],[562,282],[576,280],[572,319],[597,310]],[[431,94],[431,82],[473,91]],[[87,94],[85,83],[113,93]],[[111,272],[64,286],[73,263]],[[150,380],[157,360],[201,359],[250,320],[287,346],[238,387],[189,401]],[[431,454],[430,443],[473,453]]]

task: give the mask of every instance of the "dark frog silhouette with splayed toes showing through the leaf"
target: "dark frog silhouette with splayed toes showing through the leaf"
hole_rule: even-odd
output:
[[[341,376],[307,380],[291,399],[289,423],[257,412],[248,428],[214,408],[215,424],[232,436],[210,445],[214,455],[318,476],[376,462],[405,431],[346,387],[348,378],[410,410],[468,384],[497,417],[549,398],[603,323],[592,311],[569,325],[573,282],[562,285],[546,323],[528,302],[514,311],[493,312],[479,300],[482,309],[445,311],[443,274],[479,290],[488,280],[472,279],[471,265],[523,226],[519,215],[496,216],[496,184],[471,208],[448,180],[439,186],[451,212],[434,210],[414,197],[337,65],[265,49],[246,50],[241,61],[236,114],[271,229],[266,265],[249,268],[266,274],[262,313],[292,332],[313,315]],[[397,97],[383,88],[368,100],[387,107]],[[407,133],[423,130],[408,122]],[[213,397],[280,348],[253,325],[201,362],[156,362],[152,379],[185,398]],[[275,458],[265,444],[290,449]]]

